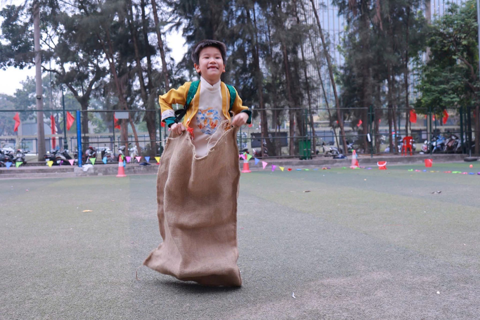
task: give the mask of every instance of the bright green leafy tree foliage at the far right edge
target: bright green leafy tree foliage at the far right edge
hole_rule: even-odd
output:
[[[429,32],[431,55],[421,66],[416,108],[440,115],[450,107],[478,103],[478,25],[476,1],[458,6],[437,19]]]

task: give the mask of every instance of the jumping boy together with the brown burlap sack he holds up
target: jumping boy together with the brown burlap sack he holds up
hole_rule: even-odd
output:
[[[183,281],[240,286],[237,130],[222,121],[241,126],[251,123],[252,114],[241,105],[235,88],[220,81],[226,51],[221,42],[199,42],[192,60],[200,82],[187,82],[159,97],[162,121],[172,130],[157,174],[163,242],[144,265]],[[181,123],[173,103],[184,105]]]

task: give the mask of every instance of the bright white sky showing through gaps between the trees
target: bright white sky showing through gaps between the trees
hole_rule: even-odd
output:
[[[23,1],[0,0],[0,10],[7,4],[19,4],[21,2]],[[172,50],[171,56],[173,59],[175,59],[177,63],[180,62],[187,50],[187,47],[185,46],[185,39],[181,35],[181,29],[178,33],[176,31],[172,31],[170,34],[167,34],[166,45]],[[30,69],[25,68],[23,70],[12,67],[6,70],[0,69],[0,94],[13,95],[16,89],[22,88],[22,84],[20,82],[24,81],[28,76],[35,77],[35,67]]]

